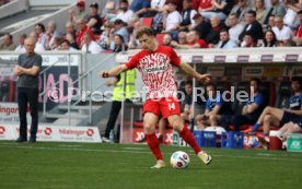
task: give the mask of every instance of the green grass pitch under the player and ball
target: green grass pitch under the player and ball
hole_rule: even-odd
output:
[[[186,169],[150,169],[148,145],[15,143],[0,141],[0,189],[295,189],[301,187],[302,153],[206,149],[204,165],[190,147],[161,146],[189,154]]]

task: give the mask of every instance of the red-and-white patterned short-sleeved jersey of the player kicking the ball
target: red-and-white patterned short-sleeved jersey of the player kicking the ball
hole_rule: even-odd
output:
[[[178,67],[181,59],[167,46],[158,46],[155,51],[141,50],[135,55],[126,67],[137,68],[146,87],[147,99],[176,97],[177,86],[173,74],[173,66]]]

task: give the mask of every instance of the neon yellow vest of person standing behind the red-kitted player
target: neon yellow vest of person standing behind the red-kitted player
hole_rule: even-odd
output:
[[[123,83],[124,83],[124,73],[120,74],[120,80],[117,82],[114,92],[113,99],[121,102],[123,101]],[[136,70],[128,70],[126,72],[126,90],[125,90],[125,99],[131,99],[136,97]]]

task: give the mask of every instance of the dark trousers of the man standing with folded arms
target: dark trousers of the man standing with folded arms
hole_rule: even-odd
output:
[[[31,87],[18,87],[18,106],[20,116],[20,137],[27,138],[27,104],[30,104],[32,125],[31,125],[31,138],[36,138],[37,125],[38,125],[38,88]]]

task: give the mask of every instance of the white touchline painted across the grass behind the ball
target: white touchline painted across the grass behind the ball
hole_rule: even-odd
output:
[[[62,144],[63,145],[63,144]],[[59,146],[62,146],[59,145]],[[77,146],[77,145],[69,145],[69,146]],[[149,150],[142,151],[142,147],[121,147],[121,149],[129,149],[127,150],[103,150],[103,149],[79,149],[79,147],[45,147],[45,146],[33,146],[33,145],[16,145],[16,143],[0,143],[0,149],[30,149],[30,150],[48,150],[48,151],[81,151],[81,152],[106,152],[106,153],[132,153],[132,154],[150,154]],[[139,151],[133,151],[139,150]],[[167,154],[167,153],[165,153]],[[189,153],[189,155],[194,156],[194,153]],[[292,161],[292,162],[302,162],[301,158],[288,158],[288,157],[280,157],[279,154],[278,157],[274,157],[274,154],[266,154],[258,153],[254,156],[244,156],[244,155],[222,155],[212,153],[210,154],[214,157],[231,157],[231,158],[254,158],[254,160],[269,160],[269,161]]]

